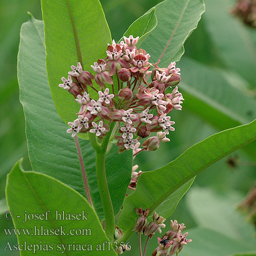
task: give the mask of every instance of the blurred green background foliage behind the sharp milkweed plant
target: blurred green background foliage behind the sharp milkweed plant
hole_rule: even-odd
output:
[[[118,40],[134,20],[161,1],[101,0],[100,2],[112,31],[112,37]],[[185,101],[183,110],[174,111],[172,114],[172,119],[176,121],[176,130],[169,135],[170,143],[162,144],[156,152],[142,153],[136,157],[135,164],[139,165],[139,170],[156,169],[175,159],[196,142],[221,130],[242,124],[243,121],[246,123],[256,118],[256,109],[253,107],[253,104],[256,104],[256,29],[253,28],[252,23],[250,24],[252,27],[249,27],[241,18],[231,14],[235,4],[235,0],[206,0],[206,13],[198,29],[185,42],[185,54],[177,64],[177,67],[184,67],[181,70],[184,80],[181,75],[179,91],[183,93],[184,89]],[[1,255],[19,255],[17,252],[7,252],[2,249],[8,241],[16,240],[15,237],[7,237],[3,233],[3,228],[12,226],[10,221],[5,221],[3,218],[6,209],[6,175],[21,157],[24,158],[24,168],[31,169],[27,153],[24,113],[19,103],[16,76],[19,30],[28,20],[27,11],[30,11],[35,18],[41,19],[40,1],[9,0],[2,1],[0,5]],[[190,85],[194,93],[208,99],[208,112],[202,102],[191,97]],[[210,108],[214,109],[212,115],[207,114],[211,113]],[[223,109],[226,116],[221,111]],[[236,118],[236,115],[241,118]],[[244,212],[241,215],[241,211],[237,208],[249,190],[255,186],[255,182],[255,146],[234,152],[201,173],[171,217],[180,223],[184,222],[188,231],[191,230],[189,238],[194,240],[181,255],[194,255],[193,253],[198,256],[235,255],[228,254],[228,248],[226,254],[219,254],[214,244],[223,246],[221,253],[224,253],[225,239],[229,239],[234,246],[236,244],[243,252],[242,243],[240,245],[237,242],[241,229],[245,231],[246,227],[245,238],[248,236],[254,239],[256,214],[251,212],[249,216],[248,212]],[[251,207],[256,208],[255,198],[253,200]],[[166,224],[169,227],[169,220]],[[137,247],[136,240],[138,239],[134,236],[132,247]],[[157,236],[153,240],[148,252],[157,247]],[[208,242],[210,240],[211,243],[207,244],[206,240]],[[129,253],[134,255],[137,252],[133,250]]]

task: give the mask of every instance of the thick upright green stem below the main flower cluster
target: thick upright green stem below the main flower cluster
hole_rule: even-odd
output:
[[[105,172],[105,156],[106,149],[108,148],[109,139],[114,128],[115,123],[110,124],[110,131],[107,133],[106,137],[103,139],[100,146],[97,146],[96,151],[96,178],[99,189],[100,200],[103,206],[104,217],[105,217],[105,232],[106,236],[111,242],[114,241],[115,232],[115,216],[114,209],[110,197],[108,183],[106,182],[106,172]]]

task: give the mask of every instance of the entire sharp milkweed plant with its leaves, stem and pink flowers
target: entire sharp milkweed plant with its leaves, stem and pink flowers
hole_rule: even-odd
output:
[[[41,7],[43,22],[30,14],[22,27],[18,55],[35,172],[13,167],[7,202],[15,228],[35,225],[16,215],[43,210],[47,219],[38,217],[36,223],[54,230],[61,225],[72,239],[64,232],[47,233],[41,242],[17,234],[18,244],[30,240],[40,255],[49,250],[104,256],[189,251],[187,244],[193,242],[185,224],[166,219],[197,174],[256,138],[251,122],[210,136],[159,169],[140,170],[136,163],[138,155],[150,163],[147,154],[154,153],[148,152],[167,143],[172,147],[173,113],[182,115],[183,101],[186,108],[180,82],[188,70],[181,70],[178,61],[204,12],[203,0],[165,0],[138,18],[119,41],[111,38],[98,0],[42,0]],[[182,125],[189,123],[183,120]],[[66,217],[56,219],[55,211]],[[78,211],[86,224],[67,217]],[[77,232],[84,227],[86,234]],[[169,230],[162,233],[165,227]],[[139,248],[129,241],[132,234]],[[150,251],[148,244],[155,249]]]

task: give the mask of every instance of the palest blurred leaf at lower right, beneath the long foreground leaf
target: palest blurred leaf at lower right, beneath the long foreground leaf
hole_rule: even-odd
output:
[[[237,191],[228,191],[223,195],[206,188],[193,188],[186,200],[198,226],[221,232],[244,243],[254,236],[253,225],[237,210],[238,203],[243,200]]]

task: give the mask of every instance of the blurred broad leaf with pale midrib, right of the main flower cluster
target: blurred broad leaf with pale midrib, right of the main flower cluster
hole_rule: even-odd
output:
[[[179,61],[178,67],[183,71],[179,91],[185,98],[184,109],[189,109],[220,130],[256,118],[256,101],[230,85],[223,73],[187,57]],[[244,148],[253,159],[255,145],[253,142]]]

